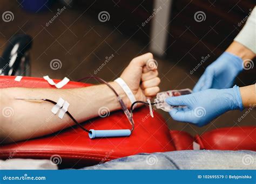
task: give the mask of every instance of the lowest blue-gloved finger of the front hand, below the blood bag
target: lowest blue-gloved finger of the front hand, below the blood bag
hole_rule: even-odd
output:
[[[169,114],[175,121],[179,121],[179,122],[190,122],[190,119],[192,119],[191,110],[172,109],[169,112]]]

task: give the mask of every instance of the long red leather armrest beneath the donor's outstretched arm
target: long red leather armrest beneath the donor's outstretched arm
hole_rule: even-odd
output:
[[[0,88],[55,88],[43,78],[23,77],[20,82],[14,76],[0,76]],[[55,80],[58,82],[59,80]],[[89,84],[70,81],[63,88],[87,87]],[[57,90],[57,89],[56,89]],[[72,105],[72,104],[71,104]],[[45,137],[0,146],[0,159],[35,158],[50,159],[59,155],[62,164],[86,166],[98,164],[141,152],[165,152],[175,150],[165,121],[157,112],[148,117],[149,109],[134,112],[135,128],[130,137],[90,139],[76,126]],[[147,117],[147,118],[145,118]],[[36,120],[35,116],[35,121]],[[145,121],[143,121],[145,119]],[[83,124],[87,129],[129,129],[130,124],[123,112],[111,112],[109,117],[90,119]]]

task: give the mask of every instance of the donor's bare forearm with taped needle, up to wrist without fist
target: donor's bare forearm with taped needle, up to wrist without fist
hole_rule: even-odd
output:
[[[127,104],[122,88],[116,82],[110,84]],[[79,123],[98,116],[100,108],[109,111],[120,109],[116,96],[106,85],[58,90],[5,88],[1,89],[1,95],[1,109],[10,107],[13,110],[12,116],[1,118],[0,138],[4,139],[4,143],[47,135],[73,125],[69,116],[65,115],[60,119],[52,114],[52,103],[16,100],[16,97],[48,98],[55,102],[62,97],[70,103],[68,110]]]

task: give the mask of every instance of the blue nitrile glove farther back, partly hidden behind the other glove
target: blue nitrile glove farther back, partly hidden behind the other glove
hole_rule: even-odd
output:
[[[241,58],[229,52],[224,52],[205,69],[193,91],[197,92],[210,88],[230,88],[234,83],[235,77],[242,69]]]

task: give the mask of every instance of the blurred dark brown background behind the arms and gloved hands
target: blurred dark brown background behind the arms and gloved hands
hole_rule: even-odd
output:
[[[204,69],[232,43],[245,24],[241,21],[255,6],[253,0],[31,2],[1,1],[0,8],[1,13],[11,11],[14,15],[12,21],[0,22],[0,51],[3,52],[15,34],[29,34],[33,38],[31,76],[49,75],[53,79],[67,76],[77,80],[95,75],[95,70],[106,58],[114,55],[96,74],[111,81],[120,75],[132,58],[153,52],[158,61],[161,91],[192,89]],[[42,5],[35,8],[35,2]],[[153,25],[153,18],[143,25],[152,12],[157,11],[157,4],[161,6],[159,14],[169,13],[167,24],[155,21]],[[106,21],[100,21],[98,17],[102,11],[109,13]],[[198,11],[204,12],[205,20],[195,20],[194,15]],[[153,26],[160,30],[159,35],[166,33],[161,53],[153,49],[161,47],[158,45],[160,39],[152,36]],[[203,65],[191,74],[190,71],[207,55],[210,56]],[[54,59],[61,61],[61,68],[51,69],[50,62]],[[236,81],[238,86],[255,83],[255,72],[256,67],[240,74]],[[255,111],[241,122],[238,118],[244,112],[227,112],[203,128],[175,122],[166,112],[158,112],[170,129],[187,131],[191,135],[225,126],[256,124]]]

